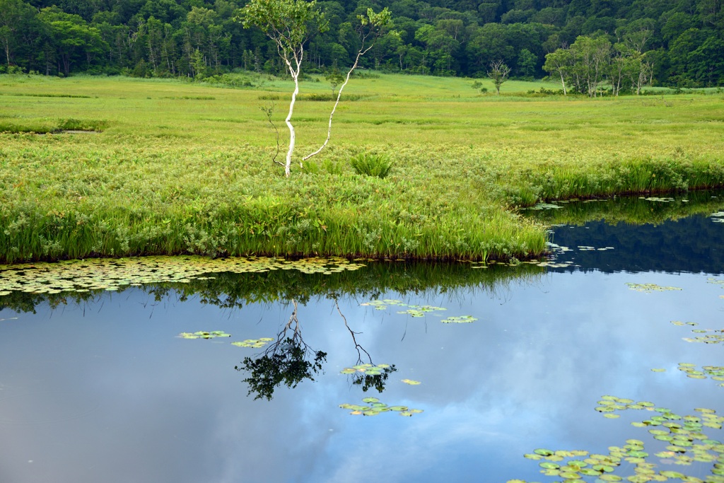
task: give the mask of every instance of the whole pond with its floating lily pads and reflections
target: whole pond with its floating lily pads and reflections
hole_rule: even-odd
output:
[[[556,206],[543,263],[0,267],[0,481],[724,482],[724,196]]]

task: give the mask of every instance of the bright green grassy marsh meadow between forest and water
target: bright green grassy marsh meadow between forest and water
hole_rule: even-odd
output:
[[[578,98],[510,81],[366,75],[292,176],[292,83],[0,75],[0,262],[197,253],[495,259],[544,252],[539,201],[724,186],[724,95]],[[492,91],[492,83],[483,80]],[[489,85],[488,85],[489,84]],[[531,93],[530,91],[536,91]],[[296,161],[332,89],[300,85]],[[347,97],[347,99],[345,99]],[[355,156],[392,164],[355,172]]]

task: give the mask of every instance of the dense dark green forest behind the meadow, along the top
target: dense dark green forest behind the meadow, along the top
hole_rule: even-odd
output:
[[[0,0],[0,72],[284,72],[269,38],[238,22],[244,4]],[[357,15],[389,7],[395,29],[379,39],[362,67],[485,77],[491,62],[504,62],[513,77],[550,74],[566,88],[589,94],[597,93],[603,79],[614,91],[636,91],[649,82],[724,85],[723,0],[337,0],[319,6],[329,30],[308,44],[309,70],[354,62]],[[592,64],[586,69],[593,70],[581,67],[580,56],[595,46],[599,54],[606,51],[605,72],[598,74]]]

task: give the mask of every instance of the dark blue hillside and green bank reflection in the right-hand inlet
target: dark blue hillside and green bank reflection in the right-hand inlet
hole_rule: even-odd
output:
[[[654,200],[654,201],[652,201]],[[661,201],[664,200],[664,201]],[[560,203],[537,218],[557,227],[556,261],[563,272],[724,272],[724,197],[689,193],[676,198],[617,198]],[[684,216],[686,215],[686,216]]]

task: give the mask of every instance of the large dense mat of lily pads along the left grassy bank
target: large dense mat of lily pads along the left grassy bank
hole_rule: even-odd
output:
[[[260,273],[298,270],[307,274],[332,274],[361,269],[364,265],[340,258],[300,260],[267,257],[209,259],[203,256],[148,256],[128,259],[88,259],[0,265],[0,296],[26,293],[119,290],[145,283],[204,280],[220,272]]]

